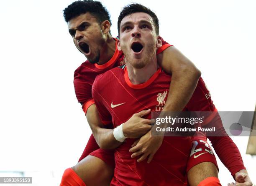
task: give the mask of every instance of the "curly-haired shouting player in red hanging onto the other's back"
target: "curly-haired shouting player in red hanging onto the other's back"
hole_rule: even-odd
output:
[[[101,23],[99,23],[100,15],[97,15],[97,13],[101,13],[101,10],[95,11],[94,8],[97,7],[102,9],[102,5],[93,6],[93,3],[96,2],[83,1],[84,4],[87,4],[88,2],[89,5],[92,3],[92,12],[90,12],[90,8],[85,8],[87,6],[77,6],[76,3],[72,3],[72,5],[70,5],[68,8],[64,10],[64,16],[65,20],[68,21],[69,33],[73,37],[74,44],[76,45],[78,50],[82,52],[91,63],[95,63],[83,63],[76,70],[74,76],[74,86],[76,90],[77,99],[82,104],[83,110],[86,113],[88,123],[92,127],[93,125],[101,125],[101,121],[97,115],[97,109],[95,108],[94,101],[92,100],[91,96],[92,83],[96,75],[103,73],[106,70],[109,70],[117,65],[122,64],[122,60],[119,60],[122,59],[122,53],[116,50],[115,48],[116,41],[112,38],[110,34],[109,17],[108,20],[104,20]],[[98,2],[96,4],[98,5]],[[84,8],[84,10],[80,10],[79,8]],[[78,14],[74,14],[74,16],[69,16],[69,13],[73,13],[76,10]],[[103,8],[102,10],[104,12],[105,8]],[[176,50],[174,47],[169,46],[170,45],[167,44],[167,46],[165,46],[162,49],[160,48],[160,50],[158,51],[160,53],[161,51],[167,48],[166,50],[164,50],[164,53],[170,55],[170,58],[160,60],[163,61],[163,63],[160,62],[160,64],[163,66],[163,68],[167,67],[165,70],[168,72],[171,72],[170,69],[174,69],[172,70],[172,84],[170,87],[168,100],[166,101],[166,105],[163,110],[181,111],[186,105],[186,103],[189,101],[189,98],[191,97],[192,92],[195,89],[195,84],[197,83],[198,80],[198,74],[200,73],[198,73],[194,65],[192,65],[192,63],[189,60],[187,60],[187,58],[185,58],[181,53],[179,53],[178,50]],[[138,48],[140,48],[140,46],[137,45],[135,46],[135,48],[137,48],[135,50],[139,50]],[[162,56],[158,55],[158,58],[159,57],[161,58]],[[171,64],[168,60],[170,60]],[[183,64],[186,64],[185,67],[183,67]],[[187,73],[179,75],[177,73],[179,70],[181,70],[181,72],[186,71]],[[182,78],[179,79],[178,77]],[[193,83],[187,83],[189,82],[189,79],[192,80]],[[178,82],[188,86],[183,87],[179,85],[179,89],[177,88],[175,90],[174,85],[178,87]],[[180,92],[183,92],[184,94],[182,95],[180,94]],[[170,99],[170,97],[172,97],[172,99]],[[120,106],[120,104],[114,105],[113,102],[111,103],[111,108],[115,108],[117,106]],[[141,126],[143,127],[147,126],[147,124],[150,123],[150,121],[142,119],[141,117],[146,115],[148,112],[149,111],[141,111],[139,114],[133,115],[127,122],[123,124],[123,131],[125,131],[125,126],[127,129],[128,126],[134,124],[134,121],[137,121],[138,125],[141,124]],[[105,122],[103,121],[103,123]],[[104,129],[104,131],[105,130],[107,129]],[[145,133],[145,131],[148,131],[148,127],[144,127],[141,133]],[[101,135],[97,135],[97,133]],[[101,147],[115,148],[121,144],[119,141],[116,140],[116,138],[114,138],[112,129],[108,129],[108,131],[104,134],[102,133],[102,131],[97,131],[95,134],[95,138],[98,138],[97,141],[98,143],[100,141],[99,144]],[[105,140],[102,141],[102,138]],[[159,146],[161,146],[162,142],[162,138],[155,139],[155,141],[152,140],[150,143],[156,145],[154,145],[154,147],[152,145],[148,146],[150,148],[148,148],[147,151],[145,151],[146,153],[144,153],[144,155],[149,155],[151,159],[153,158],[154,153],[157,151]],[[88,144],[90,144],[89,147]],[[86,156],[87,154],[91,153],[92,150],[98,148],[98,146],[95,146],[94,138],[90,138],[88,144],[88,148],[85,148],[82,156]],[[105,155],[108,153],[107,151],[101,151],[101,153],[99,152],[100,151],[97,151],[97,153],[95,154],[93,154],[92,152],[92,156],[87,156],[83,160],[83,162],[80,163],[81,165],[83,165],[83,167],[85,167],[85,169],[81,169],[81,166],[79,166],[78,163],[78,165],[73,168],[74,171],[73,169],[68,169],[67,171],[65,171],[62,180],[70,178],[70,175],[73,175],[75,177],[75,179],[73,180],[74,185],[77,185],[78,183],[80,185],[83,185],[83,181],[87,185],[104,185],[104,183],[101,183],[101,181],[104,181],[104,179],[107,180],[107,178],[109,177],[109,172],[111,172],[111,168],[109,166],[111,163],[109,162],[112,160],[108,161],[108,158],[105,157]],[[146,157],[144,156],[144,158]],[[105,162],[109,163],[109,165],[107,165]],[[78,174],[78,176],[76,173]],[[79,179],[79,176],[82,178],[82,180]],[[70,182],[62,182],[62,185],[72,184]]]

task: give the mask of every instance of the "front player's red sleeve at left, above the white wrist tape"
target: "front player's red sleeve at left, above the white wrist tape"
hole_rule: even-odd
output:
[[[100,85],[102,80],[101,79],[102,75],[98,75],[92,85],[92,98],[95,100],[95,105],[98,109],[100,119],[104,125],[108,125],[112,123],[112,117],[110,113],[108,112],[108,109],[105,107],[105,101],[104,98],[102,97],[102,87],[104,85]],[[104,81],[104,80],[103,80]]]

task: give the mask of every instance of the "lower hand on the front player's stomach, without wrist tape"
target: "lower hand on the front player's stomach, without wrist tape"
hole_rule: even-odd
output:
[[[147,162],[150,163],[156,151],[161,146],[163,139],[164,136],[151,136],[151,131],[149,131],[133,143],[132,148],[129,150],[133,153],[131,157],[135,158],[136,156],[142,155],[137,160],[138,162],[141,162],[149,156]]]

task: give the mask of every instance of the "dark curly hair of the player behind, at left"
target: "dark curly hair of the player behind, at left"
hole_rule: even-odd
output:
[[[89,12],[96,17],[97,21],[102,23],[102,21],[108,20],[111,25],[110,15],[108,10],[99,2],[93,0],[79,0],[70,4],[67,8],[63,10],[63,16],[66,22],[69,20]]]

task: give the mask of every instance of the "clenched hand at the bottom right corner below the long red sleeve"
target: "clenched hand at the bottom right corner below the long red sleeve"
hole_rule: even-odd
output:
[[[252,186],[250,177],[246,170],[241,170],[235,174],[236,183],[228,183],[228,186]],[[235,185],[236,184],[236,185]]]

